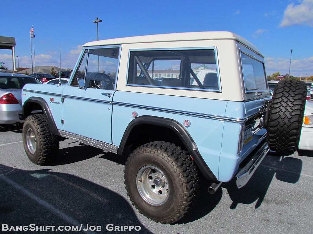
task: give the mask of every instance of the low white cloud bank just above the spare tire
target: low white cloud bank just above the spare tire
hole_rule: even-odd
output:
[[[289,73],[290,59],[266,58],[265,68],[268,76],[279,71],[285,75]],[[305,59],[291,59],[290,75],[291,76],[312,76],[313,75],[313,56]]]

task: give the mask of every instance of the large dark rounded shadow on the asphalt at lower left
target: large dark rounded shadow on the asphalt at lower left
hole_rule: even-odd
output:
[[[45,233],[69,233],[56,229],[80,224],[86,229],[88,224],[100,226],[101,231],[91,227],[85,233],[101,233],[110,231],[106,226],[111,224],[109,228],[139,226],[141,229],[126,230],[128,233],[151,233],[123,197],[74,175],[49,169],[25,171],[0,164],[0,187],[0,223],[8,227],[35,224],[55,226],[54,231],[41,230]]]

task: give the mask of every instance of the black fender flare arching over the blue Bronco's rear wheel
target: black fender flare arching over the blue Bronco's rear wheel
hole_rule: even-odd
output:
[[[196,143],[194,142],[188,131],[184,128],[184,126],[182,126],[182,124],[173,119],[167,119],[150,115],[136,117],[128,124],[122,137],[121,144],[118,148],[117,154],[123,155],[127,148],[126,142],[129,137],[129,134],[131,133],[131,130],[140,124],[152,124],[171,129],[183,142],[184,146],[191,154],[192,158],[194,159],[195,163],[197,164],[198,168],[203,173],[203,175],[210,180],[218,181],[215,175],[212,173],[211,169],[204,162],[201,154],[198,151]]]

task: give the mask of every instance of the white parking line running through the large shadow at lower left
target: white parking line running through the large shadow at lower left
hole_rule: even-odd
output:
[[[10,184],[12,187],[16,188],[17,190],[19,190],[20,192],[24,193],[26,196],[30,197],[31,199],[35,200],[35,202],[37,202],[38,204],[44,206],[45,208],[47,208],[48,210],[52,211],[53,213],[55,213],[57,216],[61,217],[62,219],[64,219],[66,222],[70,223],[71,225],[74,226],[80,226],[80,223],[73,219],[72,217],[69,217],[68,215],[66,215],[64,212],[60,211],[59,209],[55,208],[54,206],[52,206],[51,204],[49,204],[48,202],[46,202],[45,200],[41,199],[40,197],[36,196],[35,194],[33,194],[32,192],[28,191],[26,188],[23,188],[22,186],[20,186],[19,184],[15,183],[13,180],[7,178],[4,175],[0,175],[0,178],[2,180],[4,180],[5,182],[7,182],[8,184]],[[86,229],[85,225],[83,225],[83,229]],[[95,233],[92,231],[84,231],[82,230],[82,232],[85,233]]]

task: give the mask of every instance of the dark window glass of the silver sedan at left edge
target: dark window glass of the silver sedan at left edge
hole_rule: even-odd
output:
[[[0,76],[0,89],[22,89],[26,84],[42,84],[32,77]]]

